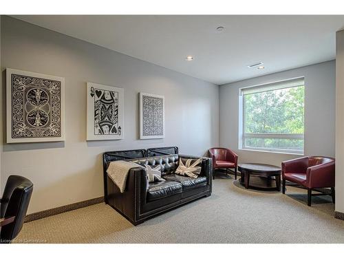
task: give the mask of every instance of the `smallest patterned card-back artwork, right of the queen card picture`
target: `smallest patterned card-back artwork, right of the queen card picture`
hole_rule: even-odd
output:
[[[140,139],[164,138],[164,96],[140,93]]]

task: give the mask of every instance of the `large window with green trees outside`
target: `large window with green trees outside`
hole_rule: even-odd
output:
[[[240,89],[239,148],[303,154],[304,79]]]

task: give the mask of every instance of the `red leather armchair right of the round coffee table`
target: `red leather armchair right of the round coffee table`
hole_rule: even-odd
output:
[[[282,193],[286,193],[286,181],[308,189],[308,206],[312,202],[312,190],[321,192],[315,195],[329,194],[319,188],[330,187],[334,203],[334,158],[310,156],[282,162]]]

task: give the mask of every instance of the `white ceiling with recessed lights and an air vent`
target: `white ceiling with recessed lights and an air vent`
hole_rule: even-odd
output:
[[[13,17],[217,85],[332,60],[344,28],[343,15]]]

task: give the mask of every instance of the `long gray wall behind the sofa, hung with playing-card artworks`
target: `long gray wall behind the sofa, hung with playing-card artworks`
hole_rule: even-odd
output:
[[[3,142],[2,184],[12,173],[34,182],[28,213],[103,195],[104,151],[175,145],[203,155],[218,145],[217,85],[10,17],[1,26],[3,74],[11,67],[65,77],[65,142]],[[125,89],[125,140],[86,142],[87,81]],[[139,92],[165,96],[166,138],[138,140]]]

